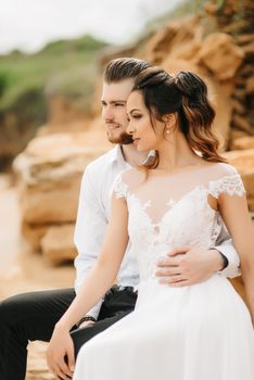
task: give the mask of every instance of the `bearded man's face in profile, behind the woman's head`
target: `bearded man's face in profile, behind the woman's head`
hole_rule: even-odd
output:
[[[134,87],[134,79],[103,83],[102,118],[105,123],[107,138],[113,143],[132,143],[132,138],[126,132],[128,119],[126,102]]]

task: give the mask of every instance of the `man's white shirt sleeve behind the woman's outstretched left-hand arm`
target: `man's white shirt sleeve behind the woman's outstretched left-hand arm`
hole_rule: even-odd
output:
[[[94,183],[94,177],[88,166],[81,180],[77,221],[74,233],[74,242],[78,251],[74,265],[76,268],[75,291],[78,293],[89,270],[94,265],[100,253],[107,219],[99,197],[100,183]],[[87,314],[98,318],[101,300]]]

